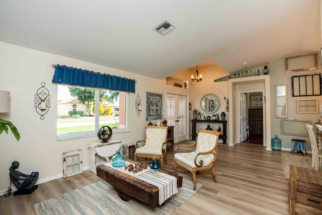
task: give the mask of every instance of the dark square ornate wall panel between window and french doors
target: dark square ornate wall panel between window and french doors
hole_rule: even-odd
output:
[[[162,119],[162,94],[146,92],[146,120]]]

